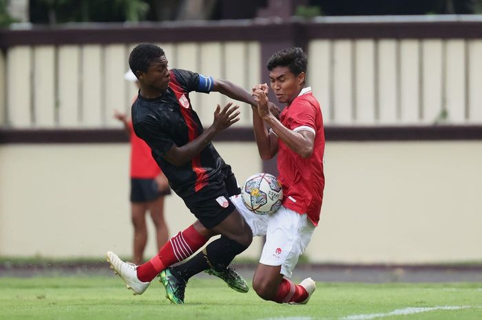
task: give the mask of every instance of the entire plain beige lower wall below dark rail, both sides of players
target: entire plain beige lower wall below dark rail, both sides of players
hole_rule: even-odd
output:
[[[216,143],[242,183],[261,171],[251,142]],[[0,255],[128,256],[127,144],[2,145]],[[481,259],[482,142],[331,142],[314,262]],[[193,221],[167,198],[171,235]],[[258,257],[260,239],[244,256]],[[156,248],[149,241],[147,255]]]

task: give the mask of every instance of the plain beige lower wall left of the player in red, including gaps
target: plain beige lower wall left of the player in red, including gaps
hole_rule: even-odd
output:
[[[240,183],[261,171],[251,144],[219,147]],[[131,253],[127,144],[8,145],[0,163],[0,255]],[[167,198],[166,216],[171,235],[195,220],[177,195]],[[257,256],[259,241],[245,255]],[[147,253],[156,252],[151,238]]]

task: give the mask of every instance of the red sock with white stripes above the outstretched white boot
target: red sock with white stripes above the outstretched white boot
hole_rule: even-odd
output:
[[[171,237],[160,248],[159,253],[145,264],[137,267],[137,277],[140,281],[152,281],[162,270],[190,257],[200,247],[206,244],[208,239],[200,235],[191,224],[185,231]]]

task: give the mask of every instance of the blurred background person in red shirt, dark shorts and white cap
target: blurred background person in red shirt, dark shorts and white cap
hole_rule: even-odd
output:
[[[136,76],[129,70],[124,78],[135,82]],[[136,100],[137,96],[134,98]],[[130,178],[131,178],[131,214],[134,226],[134,264],[143,263],[143,255],[147,244],[147,224],[145,214],[149,211],[156,227],[156,243],[160,249],[168,239],[169,231],[164,219],[164,196],[171,193],[167,178],[160,171],[156,161],[151,156],[151,148],[136,134],[132,121],[126,114],[115,111],[114,117],[123,122],[125,131],[129,134],[131,145]]]

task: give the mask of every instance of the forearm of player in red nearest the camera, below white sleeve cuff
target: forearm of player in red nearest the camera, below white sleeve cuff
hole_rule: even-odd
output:
[[[313,153],[313,145],[311,145],[302,134],[284,127],[280,120],[277,120],[272,114],[264,117],[263,120],[273,129],[278,139],[281,139],[289,149],[293,150],[302,158],[311,156]]]

